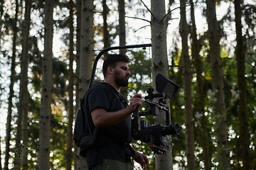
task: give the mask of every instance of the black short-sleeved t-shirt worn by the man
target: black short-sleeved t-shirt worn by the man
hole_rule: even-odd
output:
[[[87,113],[95,108],[105,108],[108,113],[127,108],[127,102],[110,84],[97,83],[92,85],[85,98],[84,106]],[[91,120],[91,115],[88,115]],[[92,121],[92,120],[91,120]],[[100,164],[103,159],[115,159],[121,162],[129,162],[132,154],[127,144],[132,141],[131,117],[105,128],[96,128],[97,134],[92,147],[87,149],[87,166],[89,169]]]

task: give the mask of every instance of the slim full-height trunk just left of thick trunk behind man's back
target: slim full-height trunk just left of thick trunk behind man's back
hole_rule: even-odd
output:
[[[69,70],[68,70],[68,134],[67,134],[67,152],[66,152],[66,169],[71,170],[72,160],[73,160],[73,115],[74,115],[74,105],[73,105],[73,91],[74,91],[74,27],[73,27],[73,0],[69,2],[70,11],[70,22],[69,22]]]

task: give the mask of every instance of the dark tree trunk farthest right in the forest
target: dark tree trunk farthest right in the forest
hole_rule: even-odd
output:
[[[247,113],[247,95],[245,78],[245,41],[242,36],[242,1],[235,0],[235,33],[237,46],[235,56],[238,64],[238,91],[239,91],[239,120],[240,120],[240,154],[242,158],[242,169],[250,168],[250,134]]]

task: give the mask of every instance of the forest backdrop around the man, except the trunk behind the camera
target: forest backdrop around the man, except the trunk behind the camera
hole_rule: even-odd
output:
[[[148,169],[256,167],[255,1],[1,0],[0,18],[0,169],[84,169],[73,120],[93,60],[142,43],[120,50],[132,60],[124,96],[145,96],[159,63],[180,86],[169,154],[134,142]]]

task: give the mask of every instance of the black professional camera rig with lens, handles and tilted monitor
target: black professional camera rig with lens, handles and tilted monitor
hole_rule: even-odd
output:
[[[178,90],[178,85],[161,74],[156,76],[156,91],[147,89],[148,96],[145,96],[144,102],[148,104],[149,111],[140,112],[139,108],[134,111],[132,117],[132,137],[134,140],[141,140],[149,145],[155,154],[165,154],[168,146],[169,136],[179,134],[180,128],[177,123],[170,124],[169,108],[164,106],[166,98],[171,99]],[[159,101],[153,101],[154,98],[159,98]],[[149,125],[146,120],[140,120],[140,117],[146,115],[158,115],[158,111],[166,113],[166,125]]]

